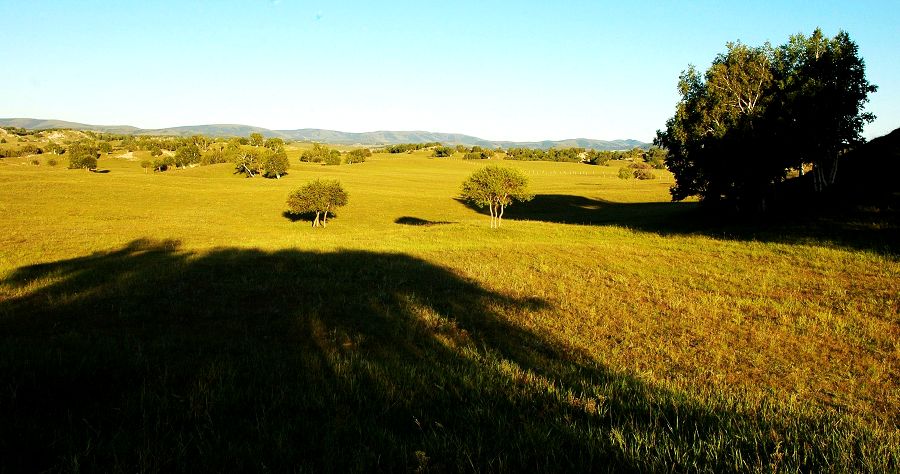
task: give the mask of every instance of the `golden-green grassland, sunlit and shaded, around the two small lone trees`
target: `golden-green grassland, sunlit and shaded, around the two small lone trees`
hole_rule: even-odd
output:
[[[0,160],[0,471],[900,469],[874,210],[711,222],[665,171],[510,161],[536,197],[492,230],[455,199],[485,161],[300,148]],[[319,177],[325,229],[284,214]]]

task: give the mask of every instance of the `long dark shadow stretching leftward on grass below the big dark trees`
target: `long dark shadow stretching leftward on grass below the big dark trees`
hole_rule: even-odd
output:
[[[466,205],[487,215],[487,209]],[[900,254],[900,223],[890,209],[805,212],[791,208],[765,215],[703,209],[697,203],[617,203],[584,196],[539,194],[506,209],[504,219],[579,225],[616,225],[659,235],[704,235],[725,240],[839,247]]]

